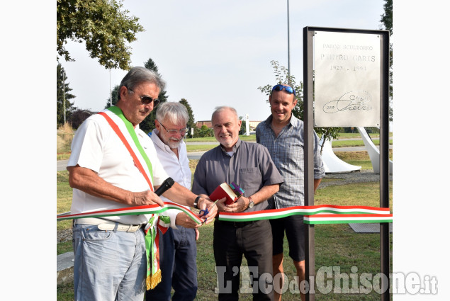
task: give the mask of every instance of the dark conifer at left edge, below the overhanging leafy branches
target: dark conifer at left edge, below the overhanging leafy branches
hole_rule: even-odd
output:
[[[72,89],[69,88],[69,84],[66,84],[67,76],[64,68],[60,63],[56,67],[56,123],[57,126],[64,124],[64,108],[65,108],[65,121],[69,120],[70,114],[75,109],[74,103],[70,102],[70,99],[75,98],[72,93]],[[65,99],[65,101],[64,101]]]

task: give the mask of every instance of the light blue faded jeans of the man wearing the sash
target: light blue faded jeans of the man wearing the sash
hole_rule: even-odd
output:
[[[75,225],[73,238],[75,300],[144,299],[147,259],[142,229],[118,232]]]

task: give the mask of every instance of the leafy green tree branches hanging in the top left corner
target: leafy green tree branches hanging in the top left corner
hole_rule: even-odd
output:
[[[68,40],[85,42],[86,50],[99,64],[111,69],[130,69],[135,34],[144,31],[139,18],[128,16],[122,0],[57,0],[57,54],[74,61],[65,48]]]

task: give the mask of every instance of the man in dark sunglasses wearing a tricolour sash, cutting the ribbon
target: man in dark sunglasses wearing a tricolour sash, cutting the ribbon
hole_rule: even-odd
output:
[[[74,188],[72,214],[164,206],[153,191],[168,175],[152,140],[139,129],[139,123],[157,105],[162,89],[164,81],[157,73],[134,67],[120,83],[117,106],[92,115],[80,125],[67,164],[69,184]],[[181,205],[208,208],[210,213],[201,217],[207,218],[206,222],[217,212],[210,200],[179,183],[163,195]],[[75,300],[142,301],[146,282],[152,287],[161,273],[152,242],[158,222],[157,215],[151,214],[74,220]]]

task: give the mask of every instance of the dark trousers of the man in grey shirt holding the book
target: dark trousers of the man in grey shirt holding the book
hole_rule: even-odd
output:
[[[273,300],[272,232],[269,220],[250,223],[215,220],[213,246],[220,301],[239,299],[242,255],[249,266],[253,300]]]

